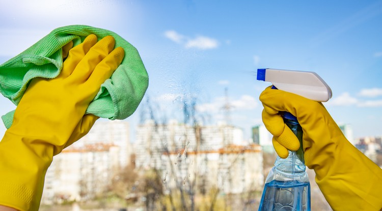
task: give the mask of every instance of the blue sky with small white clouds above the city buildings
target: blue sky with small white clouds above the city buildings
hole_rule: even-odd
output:
[[[250,137],[270,85],[256,70],[303,70],[331,86],[324,105],[354,137],[382,135],[382,1],[7,1],[0,63],[70,24],[109,29],[138,48],[157,115],[180,116],[194,96],[209,123],[224,120],[227,88],[230,119]],[[1,114],[14,108],[0,98]],[[132,129],[142,111],[127,119]]]

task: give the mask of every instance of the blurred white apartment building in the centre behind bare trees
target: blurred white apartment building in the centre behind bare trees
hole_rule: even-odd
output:
[[[137,128],[134,148],[137,168],[160,170],[170,189],[196,185],[198,192],[242,193],[263,187],[262,149],[245,143],[242,130],[234,126],[192,127],[176,120],[155,125],[148,120]]]

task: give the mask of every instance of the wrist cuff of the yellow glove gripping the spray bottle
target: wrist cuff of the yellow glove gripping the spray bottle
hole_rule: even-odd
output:
[[[316,183],[333,210],[379,210],[382,169],[347,140],[337,146],[332,163],[316,172]]]

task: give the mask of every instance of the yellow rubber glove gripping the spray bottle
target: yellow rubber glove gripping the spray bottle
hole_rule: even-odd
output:
[[[303,128],[305,164],[316,172],[316,182],[333,210],[382,208],[382,170],[345,138],[322,103],[270,87],[260,101],[264,125],[282,158],[299,143],[278,112],[297,117]]]

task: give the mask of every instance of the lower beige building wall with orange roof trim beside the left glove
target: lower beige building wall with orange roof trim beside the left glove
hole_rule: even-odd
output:
[[[68,147],[45,177],[42,203],[81,201],[102,195],[119,166],[119,146],[93,143]]]

